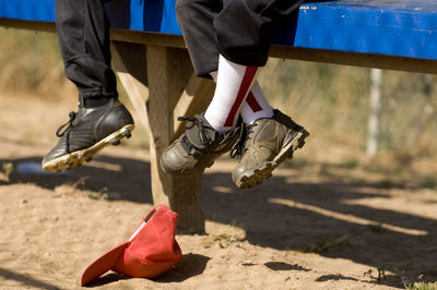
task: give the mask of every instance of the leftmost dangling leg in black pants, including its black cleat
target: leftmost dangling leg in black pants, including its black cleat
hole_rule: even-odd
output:
[[[43,159],[49,171],[80,166],[133,130],[131,114],[118,101],[103,2],[56,1],[59,46],[67,77],[79,90],[79,111],[70,113],[69,122],[57,131],[58,144]]]

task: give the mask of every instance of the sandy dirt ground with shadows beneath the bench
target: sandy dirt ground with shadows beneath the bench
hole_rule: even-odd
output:
[[[0,96],[0,289],[80,288],[83,269],[125,242],[153,207],[147,152],[126,142],[67,174],[26,170],[52,147],[74,106],[73,98]],[[129,144],[144,134],[135,133]],[[233,184],[235,160],[220,159],[204,176],[208,234],[177,235],[180,263],[153,280],[108,273],[91,287],[395,289],[436,281],[436,191],[411,174],[393,179],[342,162],[351,154],[338,146],[329,154],[336,161],[323,159],[329,148],[321,144],[311,136],[293,164],[252,191]],[[436,162],[420,166],[437,172]]]

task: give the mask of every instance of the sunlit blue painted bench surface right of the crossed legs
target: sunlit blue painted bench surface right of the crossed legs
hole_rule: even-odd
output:
[[[435,60],[437,1],[303,4],[292,45]]]

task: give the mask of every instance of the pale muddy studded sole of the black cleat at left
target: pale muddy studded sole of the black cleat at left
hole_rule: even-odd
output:
[[[92,160],[94,155],[96,155],[106,146],[117,146],[120,144],[120,140],[122,140],[123,137],[130,138],[133,129],[133,124],[125,125],[120,130],[114,132],[107,137],[104,137],[88,148],[73,152],[43,164],[43,169],[47,171],[61,172],[61,170],[63,169],[70,170],[73,167],[79,167],[84,162],[88,162]]]

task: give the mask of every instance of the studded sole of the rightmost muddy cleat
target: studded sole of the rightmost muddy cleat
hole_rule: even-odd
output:
[[[272,177],[272,171],[282,164],[286,158],[293,158],[293,153],[304,147],[305,138],[309,136],[306,130],[300,131],[272,161],[264,161],[261,165],[246,171],[237,180],[236,185],[241,190],[252,189],[255,185],[261,184],[265,179]]]

